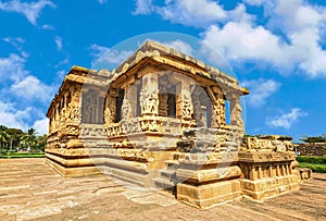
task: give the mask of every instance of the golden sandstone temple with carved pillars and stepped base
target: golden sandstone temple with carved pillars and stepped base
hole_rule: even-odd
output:
[[[299,189],[291,137],[244,136],[236,78],[155,41],[112,71],[73,66],[53,98],[46,162],[162,187],[198,208]]]

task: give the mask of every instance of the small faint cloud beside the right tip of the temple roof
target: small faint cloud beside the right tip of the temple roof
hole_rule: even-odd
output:
[[[250,95],[247,97],[249,105],[260,107],[266,102],[268,97],[279,89],[280,83],[273,79],[260,78],[243,81],[241,86],[249,88]]]

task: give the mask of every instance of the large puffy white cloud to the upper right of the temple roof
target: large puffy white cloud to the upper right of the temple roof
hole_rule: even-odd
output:
[[[205,44],[216,48],[227,59],[260,60],[277,66],[290,60],[287,54],[289,46],[263,26],[229,22],[223,28],[212,25],[202,36]]]

